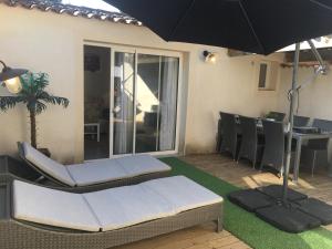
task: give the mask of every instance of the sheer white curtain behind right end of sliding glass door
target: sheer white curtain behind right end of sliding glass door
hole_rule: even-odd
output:
[[[162,58],[159,151],[175,149],[178,59]]]

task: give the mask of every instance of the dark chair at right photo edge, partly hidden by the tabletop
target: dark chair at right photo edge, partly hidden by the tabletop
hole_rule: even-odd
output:
[[[312,126],[320,128],[321,132],[332,132],[332,121],[315,118]],[[312,176],[317,167],[329,167],[329,138],[311,139],[302,146],[300,164],[301,167],[310,167]]]

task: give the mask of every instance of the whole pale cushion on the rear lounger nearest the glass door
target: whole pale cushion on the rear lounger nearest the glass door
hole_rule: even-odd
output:
[[[134,155],[64,166],[23,143],[25,158],[69,186],[89,186],[139,175],[168,172],[170,167],[151,155]]]

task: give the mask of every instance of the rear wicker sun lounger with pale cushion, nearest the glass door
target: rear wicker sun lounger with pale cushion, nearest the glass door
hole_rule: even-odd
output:
[[[44,156],[28,143],[18,145],[21,158],[48,180],[83,191],[138,184],[169,176],[170,173],[168,165],[149,155],[124,156],[64,166]]]

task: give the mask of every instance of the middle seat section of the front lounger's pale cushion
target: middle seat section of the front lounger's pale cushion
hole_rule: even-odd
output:
[[[85,199],[108,231],[175,215],[163,197],[141,185],[84,194]]]

